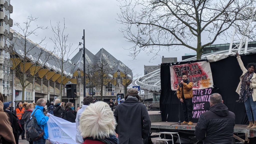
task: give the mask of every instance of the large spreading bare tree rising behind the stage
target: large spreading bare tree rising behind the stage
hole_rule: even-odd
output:
[[[178,50],[183,46],[195,50],[197,59],[201,59],[202,49],[218,37],[228,36],[231,26],[249,39],[255,38],[240,24],[243,20],[255,20],[255,0],[118,1],[118,22],[125,26],[120,30],[128,42],[135,44],[129,48],[133,58],[141,51],[156,56],[162,48]]]

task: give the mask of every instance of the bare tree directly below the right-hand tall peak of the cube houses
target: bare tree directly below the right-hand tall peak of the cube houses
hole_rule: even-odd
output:
[[[104,56],[96,57],[95,63],[95,83],[100,87],[100,99],[103,100],[103,86],[111,82],[113,77],[113,66],[108,63]]]

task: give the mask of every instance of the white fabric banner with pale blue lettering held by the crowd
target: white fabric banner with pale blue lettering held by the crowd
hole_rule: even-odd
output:
[[[49,114],[49,113],[48,113]],[[66,121],[62,118],[49,114],[48,140],[51,143],[75,144],[76,143],[76,123]]]

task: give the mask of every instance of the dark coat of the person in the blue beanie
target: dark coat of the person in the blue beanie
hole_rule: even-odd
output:
[[[19,143],[19,132],[22,132],[22,129],[20,128],[20,126],[18,124],[18,120],[17,120],[18,117],[16,115],[14,115],[11,111],[4,110],[4,112],[6,112],[9,117],[9,121],[10,121],[12,129],[13,129],[13,135],[14,135],[15,141],[16,141],[16,143]],[[6,142],[3,142],[3,143],[6,143]]]

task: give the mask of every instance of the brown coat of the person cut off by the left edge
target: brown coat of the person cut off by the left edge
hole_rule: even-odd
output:
[[[3,102],[0,101],[0,139],[4,138],[10,144],[16,144],[11,124],[9,122],[8,116],[4,112],[3,107]]]

